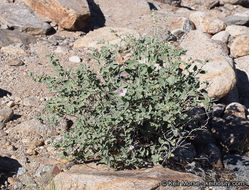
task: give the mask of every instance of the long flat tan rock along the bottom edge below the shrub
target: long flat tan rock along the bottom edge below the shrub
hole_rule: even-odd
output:
[[[197,185],[182,186],[183,181],[196,182]],[[193,174],[181,173],[162,167],[135,171],[113,171],[101,166],[83,165],[73,166],[69,171],[58,174],[53,179],[51,187],[60,190],[173,190],[176,187],[173,186],[172,182],[179,185],[177,186],[179,190],[193,190],[200,189],[202,180]]]

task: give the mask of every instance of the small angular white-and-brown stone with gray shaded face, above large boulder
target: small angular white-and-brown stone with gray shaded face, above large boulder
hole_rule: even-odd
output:
[[[170,23],[169,27],[171,33],[175,35],[177,38],[181,38],[182,35],[194,29],[195,29],[194,23],[185,17],[176,18],[174,21]]]

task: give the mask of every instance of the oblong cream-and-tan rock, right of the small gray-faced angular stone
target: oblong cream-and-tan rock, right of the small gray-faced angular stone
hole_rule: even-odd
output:
[[[189,19],[195,24],[197,30],[208,34],[216,34],[226,28],[225,23],[211,13],[196,11],[190,14]]]

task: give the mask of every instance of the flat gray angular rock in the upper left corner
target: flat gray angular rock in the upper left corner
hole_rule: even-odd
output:
[[[32,10],[25,5],[0,5],[0,22],[9,28],[18,29],[33,35],[47,34],[52,27],[41,21]]]

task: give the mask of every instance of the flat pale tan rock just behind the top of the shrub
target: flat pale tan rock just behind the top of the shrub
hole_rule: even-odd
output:
[[[115,33],[121,36],[131,34],[134,36],[139,36],[139,34],[130,29],[126,28],[112,28],[104,27],[92,32],[89,32],[87,35],[78,39],[74,42],[74,48],[100,48],[102,46],[109,44],[116,44],[121,41],[121,39],[115,36]]]

